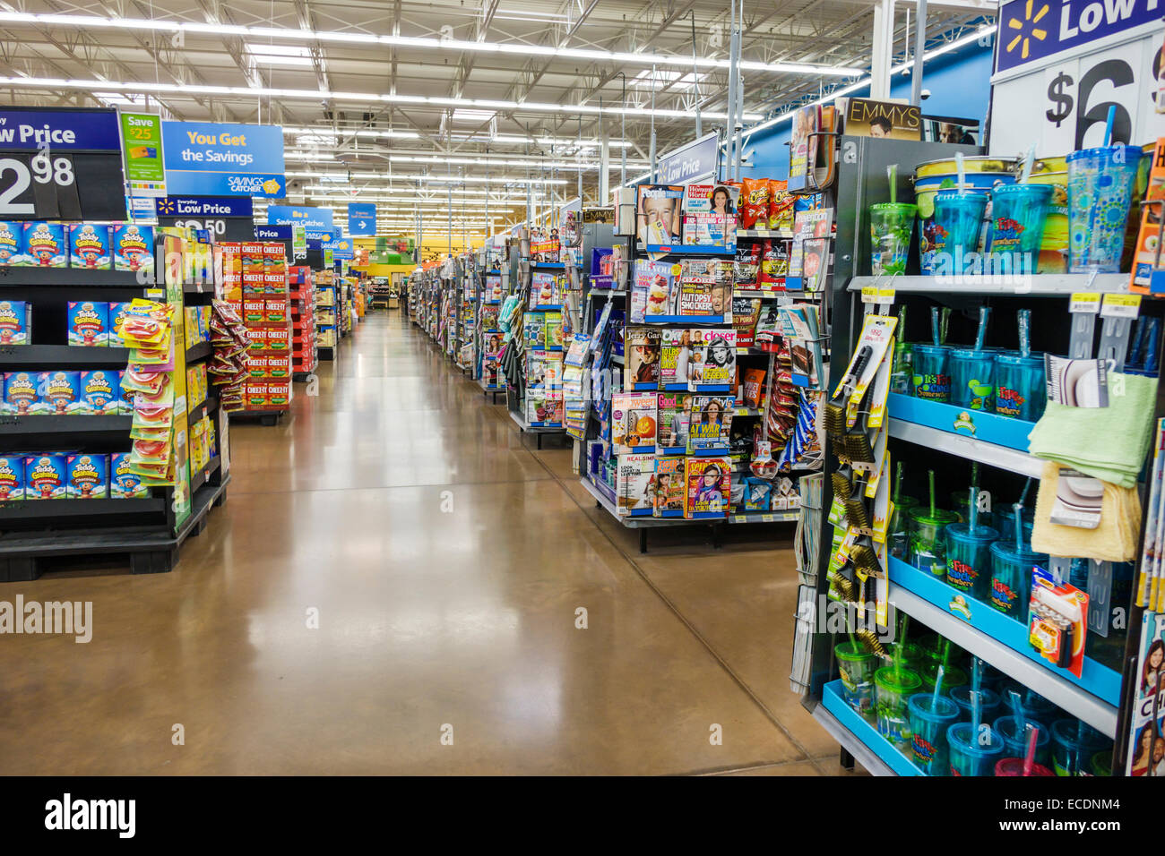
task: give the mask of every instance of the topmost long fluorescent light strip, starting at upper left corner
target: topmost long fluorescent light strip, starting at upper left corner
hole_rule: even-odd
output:
[[[530,13],[523,13],[530,14]],[[588,59],[598,63],[615,63],[619,65],[675,65],[690,69],[694,64],[701,69],[727,69],[728,59],[696,57],[675,54],[649,54],[647,51],[628,52],[594,50],[591,48],[555,48],[542,44],[523,44],[521,42],[474,42],[460,38],[432,38],[423,36],[393,36],[375,33],[352,33],[337,30],[309,30],[290,27],[242,27],[238,24],[199,23],[197,21],[160,21],[140,17],[103,17],[99,15],[57,15],[34,14],[27,12],[0,12],[0,22],[23,23],[45,27],[77,27],[83,29],[144,29],[163,33],[193,33],[214,36],[239,36],[240,38],[273,40],[285,38],[296,42],[344,42],[347,44],[382,44],[397,48],[424,48],[440,51],[474,51],[479,54],[502,54],[517,56],[542,56],[566,59]],[[866,73],[862,69],[814,65],[812,63],[762,63],[744,59],[740,68],[748,71],[767,71],[778,75],[826,75],[835,77],[854,77]]]

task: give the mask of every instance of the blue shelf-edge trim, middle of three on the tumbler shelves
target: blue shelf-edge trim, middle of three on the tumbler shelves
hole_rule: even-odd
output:
[[[1045,666],[1047,671],[1052,672],[1058,678],[1064,678],[1065,680],[1076,685],[1086,692],[1092,693],[1093,695],[1096,695],[1114,707],[1120,706],[1120,672],[1116,672],[1108,666],[1103,666],[1094,659],[1085,657],[1083,667],[1080,670],[1080,677],[1076,678],[1068,670],[1057,668],[1051,665],[1046,659],[1039,656],[1036,649],[1028,644],[1026,624],[1021,624],[1015,618],[1003,615],[1003,613],[997,609],[993,609],[988,603],[962,596],[959,592],[955,592],[954,588],[948,586],[941,578],[919,571],[902,559],[895,559],[891,557],[889,572],[890,581],[895,585],[902,586],[923,600],[934,604],[939,609],[946,610],[953,617],[970,624],[984,636],[989,636],[996,642],[1007,645],[1012,651],[1024,655],[1033,663]],[[956,595],[960,597],[960,601],[958,602],[954,601]],[[952,608],[953,602],[958,609]],[[966,610],[966,614],[962,610]]]

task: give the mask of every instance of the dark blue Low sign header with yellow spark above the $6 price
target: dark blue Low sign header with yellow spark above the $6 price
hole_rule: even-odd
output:
[[[1012,0],[1000,7],[998,63],[1007,71],[1162,20],[1158,0]]]

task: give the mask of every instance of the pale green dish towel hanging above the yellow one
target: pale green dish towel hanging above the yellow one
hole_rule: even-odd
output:
[[[1113,395],[1124,379],[1124,395]],[[1107,408],[1068,408],[1048,402],[1028,434],[1029,451],[1122,488],[1137,483],[1149,452],[1157,379],[1111,373]]]

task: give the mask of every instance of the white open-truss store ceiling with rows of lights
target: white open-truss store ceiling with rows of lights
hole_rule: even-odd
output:
[[[927,45],[995,6],[931,0]],[[746,125],[863,77],[873,7],[744,0]],[[896,62],[913,13],[898,0]],[[622,155],[628,178],[645,169],[652,119],[661,153],[694,137],[697,104],[705,133],[722,128],[728,43],[722,0],[0,0],[13,104],[132,101],[172,119],[281,125],[294,200],[346,210],[359,192],[394,226],[419,198],[444,226],[452,196],[476,233],[487,188],[495,228],[524,213],[527,182],[544,207],[578,196],[581,175],[598,204],[603,136],[614,186]]]

